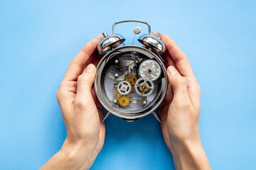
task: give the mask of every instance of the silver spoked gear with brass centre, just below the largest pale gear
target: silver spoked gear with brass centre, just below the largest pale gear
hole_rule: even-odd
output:
[[[149,96],[154,91],[154,83],[147,78],[140,78],[135,83],[135,91],[140,96]]]

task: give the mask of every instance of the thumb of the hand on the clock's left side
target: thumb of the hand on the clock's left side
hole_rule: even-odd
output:
[[[95,65],[89,64],[86,69],[82,72],[82,74],[78,77],[78,88],[77,88],[77,96],[78,100],[81,101],[93,101],[91,89],[92,84],[95,80],[96,68]],[[89,99],[89,100],[88,100]]]

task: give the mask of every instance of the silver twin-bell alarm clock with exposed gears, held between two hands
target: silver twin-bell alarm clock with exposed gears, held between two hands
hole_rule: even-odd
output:
[[[148,26],[149,34],[138,39],[143,47],[133,45],[134,39],[132,45],[124,45],[124,37],[114,34],[114,26],[124,22]],[[134,38],[140,32],[139,27],[134,28]],[[168,81],[159,55],[164,54],[160,34],[151,35],[151,27],[145,21],[124,20],[113,24],[111,35],[105,32],[103,35],[99,54],[108,53],[100,60],[95,77],[97,98],[107,110],[102,121],[110,113],[127,121],[153,113],[161,121],[154,111],[166,95]]]

